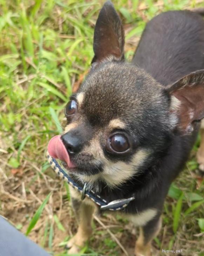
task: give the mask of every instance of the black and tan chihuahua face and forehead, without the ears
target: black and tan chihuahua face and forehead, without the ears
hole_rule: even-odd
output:
[[[144,71],[98,65],[65,108],[62,138],[77,166],[72,172],[82,181],[116,186],[143,171],[169,139],[168,107],[164,89]],[[69,148],[73,140],[76,152]]]

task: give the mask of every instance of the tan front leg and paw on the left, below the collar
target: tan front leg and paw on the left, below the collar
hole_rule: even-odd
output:
[[[92,233],[91,221],[94,207],[76,197],[72,197],[72,206],[75,212],[78,229],[76,235],[68,241],[67,249],[69,249],[69,254],[76,254],[84,247]]]

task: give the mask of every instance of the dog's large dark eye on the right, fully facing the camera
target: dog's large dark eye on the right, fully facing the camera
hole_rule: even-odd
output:
[[[107,141],[107,149],[111,152],[125,152],[129,149],[130,145],[127,138],[121,134],[115,134]]]

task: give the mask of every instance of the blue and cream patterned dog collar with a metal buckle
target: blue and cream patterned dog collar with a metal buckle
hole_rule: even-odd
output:
[[[55,173],[63,180],[67,181],[69,185],[71,185],[75,190],[79,191],[81,194],[81,199],[83,200],[85,197],[91,199],[96,203],[98,206],[100,206],[101,210],[110,210],[110,211],[118,211],[124,209],[130,201],[134,200],[135,197],[129,197],[124,199],[118,199],[111,202],[107,202],[105,199],[98,196],[93,190],[86,190],[86,183],[83,184],[83,186],[78,185],[76,181],[74,181],[68,174],[65,172],[62,167],[58,164],[56,159],[54,159],[52,156],[49,155],[47,152],[47,159],[50,164],[50,166],[53,168]]]

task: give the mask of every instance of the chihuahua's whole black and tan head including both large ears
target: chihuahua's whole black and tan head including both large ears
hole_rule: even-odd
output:
[[[90,73],[70,97],[61,136],[69,171],[93,187],[98,181],[115,187],[143,174],[166,152],[175,130],[192,132],[204,117],[204,72],[165,88],[125,63],[123,47],[122,24],[108,1],[95,26]]]

